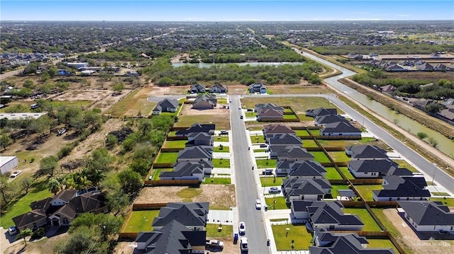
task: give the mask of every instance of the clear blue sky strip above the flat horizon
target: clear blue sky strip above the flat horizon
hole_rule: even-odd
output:
[[[1,21],[454,20],[454,1],[0,0]]]

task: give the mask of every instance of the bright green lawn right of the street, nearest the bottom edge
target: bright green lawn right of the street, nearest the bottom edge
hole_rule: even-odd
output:
[[[309,250],[312,234],[304,224],[272,225],[271,228],[277,250]]]

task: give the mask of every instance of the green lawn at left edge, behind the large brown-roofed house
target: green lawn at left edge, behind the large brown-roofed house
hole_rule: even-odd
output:
[[[38,200],[44,200],[46,197],[52,197],[52,193],[49,190],[30,190],[27,195],[23,196],[16,204],[13,204],[13,208],[0,217],[0,226],[6,229],[9,226],[13,226],[13,218],[26,212],[30,212],[30,203]],[[5,211],[2,211],[5,212]]]

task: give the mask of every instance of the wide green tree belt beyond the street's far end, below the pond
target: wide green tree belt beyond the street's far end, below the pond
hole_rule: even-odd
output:
[[[316,72],[322,70],[321,64],[313,61],[301,65],[282,64],[277,67],[258,65],[240,67],[237,64],[214,65],[210,68],[191,66],[172,67],[165,61],[157,62],[157,66],[145,67],[142,71],[148,74],[159,86],[187,86],[196,82],[238,82],[248,85],[261,82],[265,85],[277,83],[295,84],[300,79],[320,84],[321,79]]]

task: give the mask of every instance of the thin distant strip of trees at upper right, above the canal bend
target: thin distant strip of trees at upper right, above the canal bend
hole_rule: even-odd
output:
[[[432,54],[433,52],[452,52],[454,45],[430,45],[430,44],[411,44],[411,45],[342,45],[342,46],[316,46],[308,47],[319,54]]]

